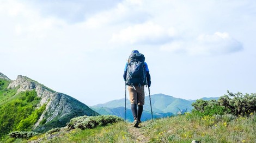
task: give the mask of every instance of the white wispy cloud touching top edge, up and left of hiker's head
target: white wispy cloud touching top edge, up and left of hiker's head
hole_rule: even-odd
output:
[[[98,12],[86,19],[81,25],[87,28],[101,28],[122,25],[124,23],[137,24],[147,21],[151,15],[139,9],[140,1],[124,1],[114,8]]]

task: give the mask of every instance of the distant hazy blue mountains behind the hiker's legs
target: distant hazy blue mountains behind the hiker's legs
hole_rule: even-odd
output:
[[[176,114],[180,110],[191,111],[191,101],[174,98],[164,94],[151,95],[151,106],[154,118],[162,118]],[[91,106],[94,111],[102,115],[117,115],[124,118],[125,99],[113,100],[103,104]],[[130,101],[126,100],[126,118],[133,121]],[[179,108],[179,109],[178,109]],[[151,108],[149,96],[145,96],[145,105],[143,106],[142,121],[151,119]]]

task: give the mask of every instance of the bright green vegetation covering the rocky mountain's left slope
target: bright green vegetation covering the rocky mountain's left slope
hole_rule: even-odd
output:
[[[31,131],[45,110],[45,105],[36,109],[40,98],[35,90],[16,94],[17,89],[7,89],[8,81],[0,79],[0,85],[0,138],[11,131]]]

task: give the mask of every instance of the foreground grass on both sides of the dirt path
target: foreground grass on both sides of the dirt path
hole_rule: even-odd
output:
[[[256,115],[234,117],[233,115],[199,116],[186,113],[181,116],[143,122],[141,128],[133,129],[131,123],[117,124],[94,129],[62,128],[52,134],[41,134],[28,140],[14,142],[137,142],[135,132],[147,137],[145,142],[256,142]]]

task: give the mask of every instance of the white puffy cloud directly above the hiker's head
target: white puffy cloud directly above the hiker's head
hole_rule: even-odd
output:
[[[165,29],[153,22],[136,24],[114,33],[111,43],[123,44],[162,44],[175,34],[174,29]]]

